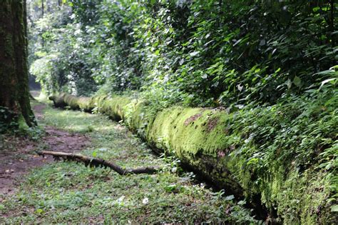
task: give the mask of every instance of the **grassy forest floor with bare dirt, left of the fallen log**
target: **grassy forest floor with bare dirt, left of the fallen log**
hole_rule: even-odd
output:
[[[106,116],[33,102],[42,134],[2,137],[0,224],[253,222],[250,210],[212,191],[177,159],[155,156],[145,143]],[[38,132],[39,133],[39,132]],[[121,176],[110,169],[35,153],[81,151],[122,167],[160,166],[157,174]]]

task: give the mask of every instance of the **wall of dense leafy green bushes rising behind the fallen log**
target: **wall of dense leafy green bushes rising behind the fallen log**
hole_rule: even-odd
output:
[[[53,86],[49,91],[83,95],[106,84],[106,92],[165,91],[164,99],[191,105],[274,103],[324,80],[319,72],[338,59],[333,1],[68,5],[36,22],[42,51],[58,53],[48,72],[53,79],[40,79]],[[33,74],[46,77],[34,66]]]

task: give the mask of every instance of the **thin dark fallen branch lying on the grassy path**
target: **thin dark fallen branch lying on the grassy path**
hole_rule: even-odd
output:
[[[83,156],[81,154],[66,153],[61,151],[39,151],[40,156],[51,155],[56,160],[68,160],[68,161],[80,161],[83,162],[86,166],[95,166],[95,167],[105,167],[113,169],[120,175],[127,174],[154,174],[158,171],[158,168],[155,167],[140,167],[137,169],[123,169],[121,166],[114,164],[111,161],[105,161],[104,159],[98,159],[88,156]]]

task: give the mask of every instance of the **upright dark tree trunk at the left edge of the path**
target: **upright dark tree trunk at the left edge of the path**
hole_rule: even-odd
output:
[[[0,114],[7,109],[14,115],[0,115],[3,124],[36,124],[29,104],[26,25],[26,0],[0,1]]]

